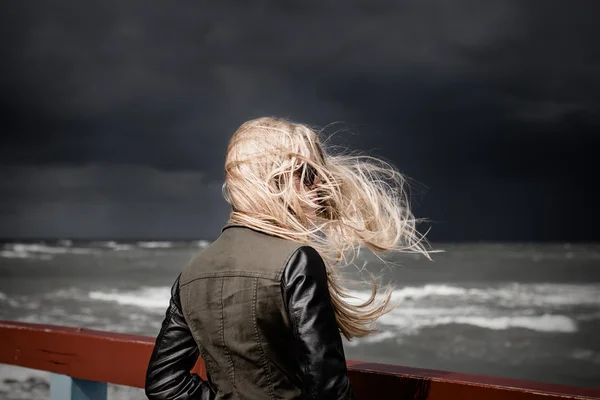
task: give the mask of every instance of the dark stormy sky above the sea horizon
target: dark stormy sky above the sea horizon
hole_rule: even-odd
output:
[[[600,3],[11,2],[0,237],[214,239],[273,115],[393,162],[435,241],[598,241]]]

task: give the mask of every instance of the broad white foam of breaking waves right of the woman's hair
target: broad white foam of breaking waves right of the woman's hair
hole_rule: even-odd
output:
[[[404,287],[392,293],[396,304],[379,320],[380,334],[368,342],[414,335],[424,328],[470,325],[482,329],[529,329],[543,333],[574,333],[578,323],[600,318],[599,312],[571,315],[565,307],[600,308],[598,285],[507,284],[491,288],[468,288],[445,284]],[[370,296],[352,291],[352,303]],[[568,313],[568,314],[566,314]],[[361,340],[361,342],[365,342]]]

